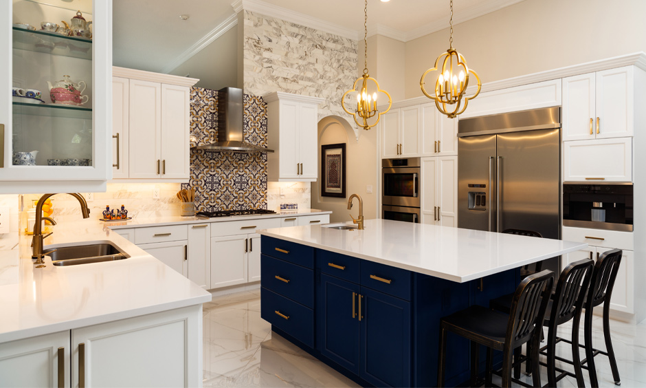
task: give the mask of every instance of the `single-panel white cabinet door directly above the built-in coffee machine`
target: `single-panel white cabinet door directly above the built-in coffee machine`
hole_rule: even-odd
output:
[[[564,182],[632,182],[632,138],[563,142]]]

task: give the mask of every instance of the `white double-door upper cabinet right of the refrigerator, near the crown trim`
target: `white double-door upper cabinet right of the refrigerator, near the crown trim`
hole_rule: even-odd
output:
[[[633,135],[634,67],[563,78],[563,140]]]

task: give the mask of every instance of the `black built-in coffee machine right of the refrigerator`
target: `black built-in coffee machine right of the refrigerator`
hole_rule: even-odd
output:
[[[632,183],[563,184],[563,225],[632,231]]]

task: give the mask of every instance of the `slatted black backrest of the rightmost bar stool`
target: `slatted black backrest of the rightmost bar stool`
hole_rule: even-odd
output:
[[[610,300],[614,281],[619,271],[619,264],[621,263],[621,255],[623,255],[621,249],[613,249],[603,252],[597,259],[592,273],[592,281],[590,281],[586,308],[588,306],[598,306],[606,299]]]

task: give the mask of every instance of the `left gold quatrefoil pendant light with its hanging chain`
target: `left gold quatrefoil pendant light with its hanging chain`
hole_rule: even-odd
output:
[[[361,87],[357,89],[359,83],[361,83]],[[370,94],[371,91],[372,94]],[[350,101],[351,98],[348,98],[348,104],[352,105],[350,105],[350,109],[346,108],[346,96],[350,93],[357,94],[356,109],[354,107],[354,103]],[[386,94],[388,97],[388,108],[385,111],[379,111],[377,109],[377,93]],[[392,100],[390,98],[390,94],[385,90],[379,89],[379,83],[377,80],[368,74],[368,0],[366,0],[364,6],[364,75],[357,78],[353,88],[343,94],[341,98],[341,106],[347,114],[353,116],[359,127],[362,127],[367,131],[379,123],[381,115],[389,111],[391,105]],[[369,119],[372,120],[368,121]]]

